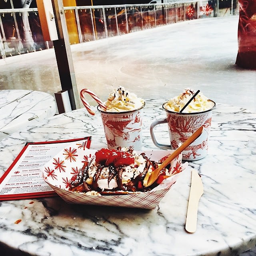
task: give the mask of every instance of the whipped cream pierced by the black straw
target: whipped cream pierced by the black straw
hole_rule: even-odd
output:
[[[180,112],[195,93],[194,90],[186,88],[180,95],[166,102],[164,108],[173,112]],[[213,106],[214,103],[204,96],[202,92],[199,92],[182,113],[202,112],[211,109]]]

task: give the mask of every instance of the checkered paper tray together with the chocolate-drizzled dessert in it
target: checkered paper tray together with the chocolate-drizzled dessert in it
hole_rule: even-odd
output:
[[[110,152],[112,153],[110,154]],[[147,175],[154,169],[154,162],[162,163],[172,154],[173,150],[132,152],[128,148],[123,148],[123,150],[112,150],[110,152],[108,149],[87,149],[81,147],[80,144],[74,143],[73,146],[63,148],[63,150],[44,165],[44,168],[42,168],[42,178],[63,200],[70,204],[154,209],[180,177],[180,172],[188,166],[188,162],[182,163],[182,154],[180,154],[171,162],[168,169],[165,170],[165,173],[168,175],[174,174],[174,172],[179,173],[170,176],[170,178],[167,178],[168,175],[164,175],[163,173],[156,184],[154,186],[152,184],[148,190],[148,188],[143,188],[143,182],[146,182]],[[104,158],[106,155],[111,157]],[[96,164],[96,156],[96,161],[100,159],[99,164]],[[148,168],[146,163],[149,164],[149,161],[150,167]],[[98,176],[95,174],[96,170],[101,169],[99,167],[100,165],[102,167],[104,165],[105,169],[103,168],[104,170],[102,169]],[[105,165],[108,165],[108,168]],[[84,183],[84,174],[86,174],[81,169],[86,168],[86,166],[97,166],[95,169],[91,168],[91,173],[86,178],[88,182],[86,186],[92,189],[88,192],[85,192],[81,186]],[[114,166],[116,175],[112,176],[111,171],[108,173],[109,168],[112,168],[109,166]],[[144,169],[148,171],[144,172]],[[118,188],[118,185],[121,187],[119,175],[122,176],[122,188],[124,190]],[[78,185],[79,182],[75,183],[75,181],[79,176],[80,182],[82,181],[82,183]],[[112,178],[110,179],[110,177]],[[108,182],[108,179],[110,179],[110,182]],[[98,180],[97,183],[96,180]],[[131,183],[128,184],[130,181],[134,183],[134,186],[131,186]],[[95,190],[92,188],[92,182],[94,182],[93,186]],[[158,185],[159,182],[161,183]],[[81,187],[82,190],[80,190]],[[127,187],[129,187],[130,191],[125,190]]]

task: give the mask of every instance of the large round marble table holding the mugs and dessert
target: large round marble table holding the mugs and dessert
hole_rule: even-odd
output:
[[[164,118],[165,100],[147,100],[143,149],[156,149],[149,127]],[[0,142],[0,175],[27,141],[92,136],[91,148],[106,147],[100,114],[79,109]],[[256,244],[256,114],[217,104],[208,155],[190,162],[154,210],[66,204],[61,198],[0,202],[0,247],[32,255],[238,255]],[[167,126],[155,130],[168,140]],[[197,230],[184,230],[191,170],[202,176]],[[30,202],[34,202],[30,204]],[[19,224],[14,222],[22,221]],[[23,254],[22,254],[23,255]]]

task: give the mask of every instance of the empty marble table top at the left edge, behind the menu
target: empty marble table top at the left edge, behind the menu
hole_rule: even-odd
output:
[[[54,97],[32,90],[0,90],[0,139],[56,114]]]

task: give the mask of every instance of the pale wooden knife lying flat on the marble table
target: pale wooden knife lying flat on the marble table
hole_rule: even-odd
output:
[[[196,170],[192,170],[190,194],[188,199],[188,212],[186,218],[185,229],[189,233],[196,231],[198,203],[204,193],[204,187],[200,176]]]

